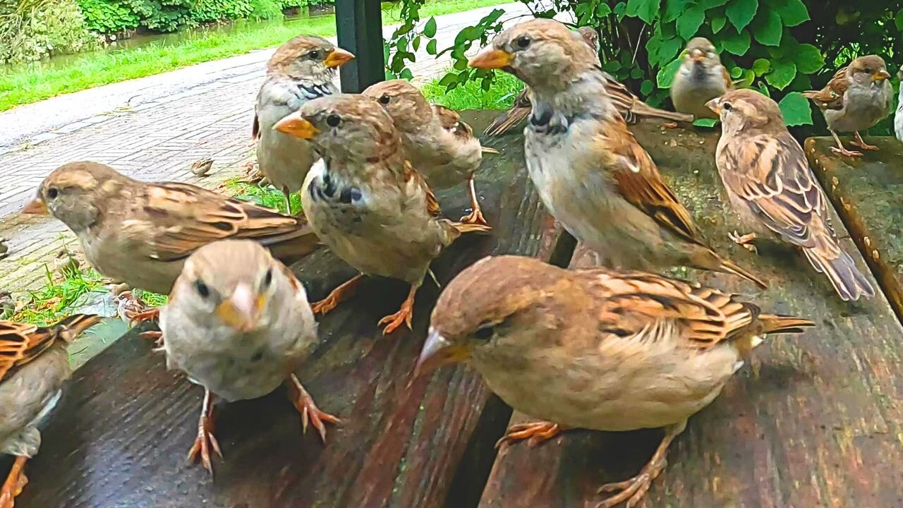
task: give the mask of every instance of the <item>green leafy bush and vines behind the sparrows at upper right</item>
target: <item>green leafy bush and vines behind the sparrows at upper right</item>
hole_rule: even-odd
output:
[[[777,100],[787,123],[824,132],[799,95],[819,89],[853,58],[878,54],[894,73],[903,51],[903,2],[869,0],[520,0],[534,17],[555,17],[600,33],[603,68],[654,106],[670,108],[668,88],[687,41],[710,39],[740,87]],[[402,19],[386,42],[387,71],[410,78],[407,65],[425,44],[430,54],[450,53],[453,69],[440,80],[447,90],[479,82],[489,89],[492,71],[467,68],[465,52],[485,45],[512,16],[495,10],[465,27],[449,47],[437,47],[435,21],[421,19],[424,0],[401,0]],[[896,81],[896,80],[895,80]],[[898,83],[895,83],[898,87]],[[871,134],[892,133],[889,118]]]

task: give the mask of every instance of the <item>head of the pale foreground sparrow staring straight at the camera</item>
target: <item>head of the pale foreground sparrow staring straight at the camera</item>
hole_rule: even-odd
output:
[[[256,241],[219,240],[185,260],[167,305],[210,327],[247,333],[271,324],[303,287]],[[283,302],[283,300],[286,300]]]

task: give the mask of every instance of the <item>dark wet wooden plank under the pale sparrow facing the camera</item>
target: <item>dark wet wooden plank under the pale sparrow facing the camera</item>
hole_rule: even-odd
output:
[[[491,118],[480,116],[474,127],[481,131]],[[441,281],[490,252],[546,258],[551,252],[554,221],[527,184],[520,143],[498,148],[504,155],[487,158],[478,183],[495,230],[461,239],[434,263]],[[452,218],[469,203],[463,186],[439,197]],[[353,274],[325,249],[293,269],[313,298]],[[322,343],[299,377],[321,409],[345,420],[330,428],[325,447],[315,433],[302,436],[282,390],[219,407],[216,433],[226,460],[215,465],[215,480],[200,466],[185,465],[200,388],[166,372],[150,344],[124,337],[76,372],[44,432],[42,453],[28,466],[32,482],[21,505],[433,507],[452,495],[452,483],[482,485],[494,458],[486,455],[491,447],[465,451],[471,441],[497,438],[509,409],[496,403],[484,411],[489,393],[464,369],[442,370],[409,386],[438,294],[425,286],[417,296],[414,333],[384,337],[377,327],[406,294],[403,284],[389,280],[366,280],[354,299],[322,319]],[[495,433],[481,437],[480,426]],[[468,469],[456,475],[462,456]],[[459,496],[472,499],[479,491],[452,499]]]

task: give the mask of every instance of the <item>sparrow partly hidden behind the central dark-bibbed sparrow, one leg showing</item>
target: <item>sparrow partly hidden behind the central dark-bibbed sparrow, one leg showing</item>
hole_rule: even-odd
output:
[[[432,188],[443,189],[470,183],[470,215],[462,222],[486,225],[479,208],[473,174],[479,169],[483,152],[495,153],[479,145],[473,129],[449,108],[431,105],[424,94],[405,80],[377,83],[363,95],[377,100],[392,117],[401,134],[411,164],[424,175]]]

